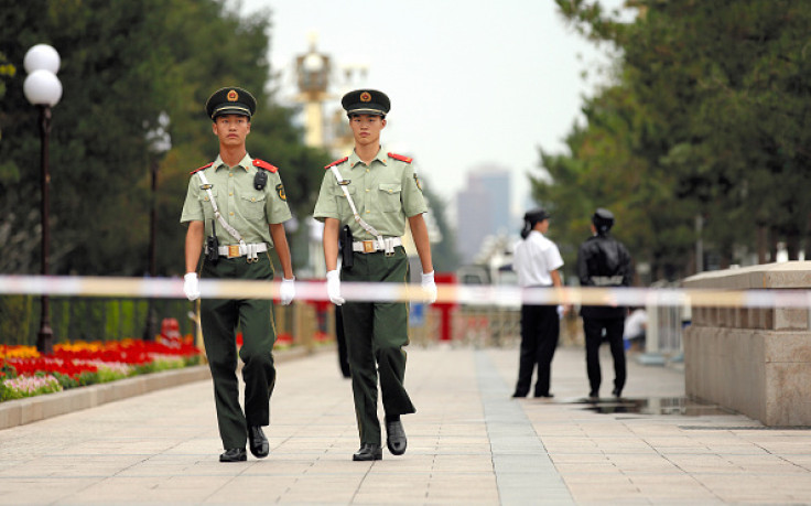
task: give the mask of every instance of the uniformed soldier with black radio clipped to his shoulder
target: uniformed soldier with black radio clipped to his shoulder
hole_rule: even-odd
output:
[[[192,172],[181,223],[186,233],[188,300],[199,298],[201,278],[273,280],[270,248],[275,247],[283,270],[282,304],[295,297],[293,268],[283,222],[290,219],[284,186],[270,163],[251,158],[246,149],[256,100],[245,89],[215,91],[206,103],[219,139],[217,159]],[[205,243],[205,248],[204,248]],[[201,252],[204,252],[201,262]],[[220,462],[261,459],[269,453],[262,427],[270,422],[273,366],[272,301],[269,299],[207,299],[201,301],[201,326],[214,379],[217,423],[225,453]],[[239,358],[244,363],[245,412],[239,403],[236,330],[242,332]]]

